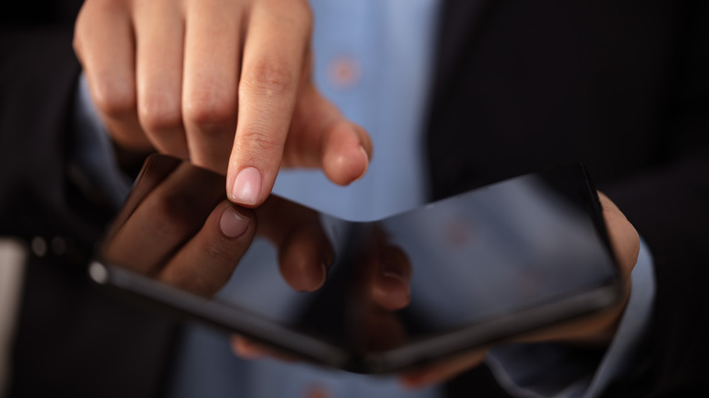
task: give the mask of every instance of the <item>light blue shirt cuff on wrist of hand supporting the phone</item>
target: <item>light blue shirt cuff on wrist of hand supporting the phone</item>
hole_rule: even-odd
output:
[[[486,362],[498,383],[516,397],[599,396],[609,383],[631,369],[651,315],[654,294],[653,257],[641,237],[630,298],[604,353],[561,343],[508,343],[491,349]]]

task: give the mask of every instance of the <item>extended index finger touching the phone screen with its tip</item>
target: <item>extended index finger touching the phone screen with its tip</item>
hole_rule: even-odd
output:
[[[255,207],[271,192],[281,164],[311,15],[304,1],[266,0],[254,5],[250,18],[226,192],[235,204]]]

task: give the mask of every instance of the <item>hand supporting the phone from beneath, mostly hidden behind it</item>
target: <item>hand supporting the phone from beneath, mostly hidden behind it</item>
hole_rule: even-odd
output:
[[[620,318],[630,296],[630,274],[640,251],[640,238],[633,224],[630,224],[618,207],[604,194],[599,193],[601,205],[611,244],[620,266],[620,276],[624,281],[624,299],[603,313],[584,319],[551,327],[523,336],[521,342],[559,341],[571,344],[607,346],[614,337]],[[486,350],[463,353],[459,357],[427,366],[414,372],[405,373],[401,380],[409,387],[422,387],[434,383],[444,383],[456,375],[482,363]]]

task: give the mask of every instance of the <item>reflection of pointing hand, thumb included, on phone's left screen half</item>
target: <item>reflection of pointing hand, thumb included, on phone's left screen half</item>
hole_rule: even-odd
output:
[[[295,290],[314,291],[325,283],[335,253],[314,210],[277,196],[256,211],[245,209],[224,199],[223,186],[221,174],[169,156],[149,158],[101,255],[211,297],[258,234],[277,248],[281,274]]]

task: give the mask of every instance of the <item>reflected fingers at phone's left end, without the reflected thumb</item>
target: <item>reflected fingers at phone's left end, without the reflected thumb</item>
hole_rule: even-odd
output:
[[[251,244],[252,210],[224,199],[224,177],[151,158],[102,248],[104,260],[211,297]]]

